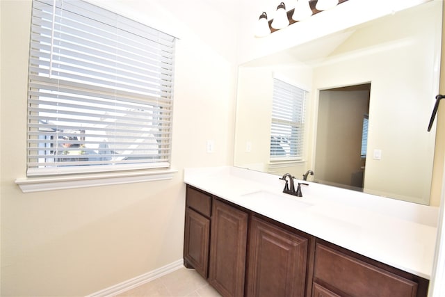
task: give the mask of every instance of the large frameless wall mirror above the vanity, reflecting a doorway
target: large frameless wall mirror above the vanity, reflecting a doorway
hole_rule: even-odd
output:
[[[241,65],[234,166],[428,204],[441,36],[430,1]],[[307,91],[301,159],[270,159],[274,79]]]

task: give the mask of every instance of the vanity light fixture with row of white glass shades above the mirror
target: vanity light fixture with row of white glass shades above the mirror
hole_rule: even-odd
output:
[[[261,13],[255,29],[256,37],[264,37],[280,29],[286,28],[290,24],[301,22],[316,13],[337,6],[337,4],[348,0],[293,0],[296,1],[296,7],[286,12],[286,5],[281,2],[277,6],[274,19],[267,19],[266,12]]]

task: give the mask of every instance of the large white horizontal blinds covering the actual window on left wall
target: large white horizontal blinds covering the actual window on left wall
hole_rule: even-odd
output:
[[[79,0],[34,0],[28,175],[170,166],[175,38]]]

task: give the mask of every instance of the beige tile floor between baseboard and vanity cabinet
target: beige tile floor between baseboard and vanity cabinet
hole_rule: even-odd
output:
[[[179,297],[199,296],[218,297],[221,296],[202,278],[194,269],[179,268],[161,278],[156,278],[146,284],[119,294],[116,297]]]

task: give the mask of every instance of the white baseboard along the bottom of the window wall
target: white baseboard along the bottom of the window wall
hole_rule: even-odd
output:
[[[155,280],[156,278],[160,278],[162,275],[168,274],[172,271],[175,271],[184,266],[183,259],[179,259],[173,263],[165,265],[161,268],[155,269],[154,271],[149,271],[144,273],[143,275],[136,276],[136,278],[131,278],[130,280],[126,280],[121,282],[120,284],[115,284],[106,289],[97,291],[93,294],[90,294],[86,297],[105,297],[105,296],[115,296],[123,293],[124,291],[128,291],[129,289],[136,288],[141,284],[145,284],[151,280]]]

